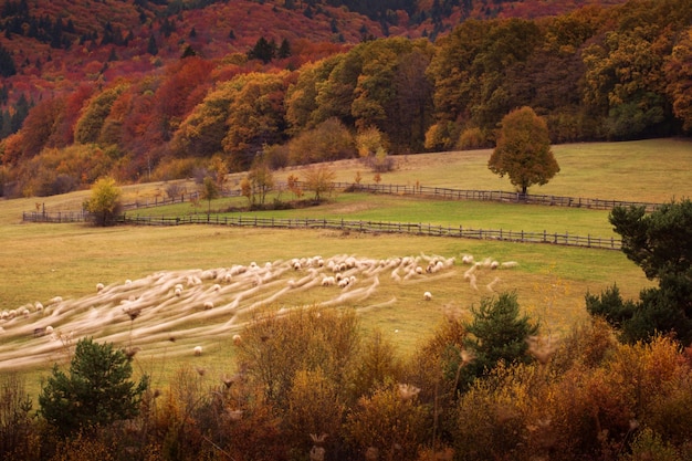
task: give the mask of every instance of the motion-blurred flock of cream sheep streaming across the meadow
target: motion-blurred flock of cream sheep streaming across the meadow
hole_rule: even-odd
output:
[[[478,290],[483,270],[508,269],[515,262],[491,259],[468,265],[463,280]],[[301,258],[211,270],[158,272],[124,283],[98,283],[77,300],[55,296],[0,312],[0,369],[52,364],[80,337],[137,346],[147,354],[202,355],[202,344],[216,335],[238,334],[261,307],[290,308],[350,305],[377,307],[373,295],[380,283],[412,284],[453,276],[454,258],[367,259],[353,255]],[[485,285],[493,291],[499,277]],[[300,293],[300,295],[298,295]],[[421,301],[431,301],[430,287]],[[303,300],[303,304],[296,304]],[[380,305],[396,304],[396,297]],[[143,347],[145,346],[145,347]]]

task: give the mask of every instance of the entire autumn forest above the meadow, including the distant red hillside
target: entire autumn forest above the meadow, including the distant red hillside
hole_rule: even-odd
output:
[[[553,143],[692,130],[686,0],[90,3],[1,6],[2,196],[348,158],[366,130],[492,147],[522,106]]]

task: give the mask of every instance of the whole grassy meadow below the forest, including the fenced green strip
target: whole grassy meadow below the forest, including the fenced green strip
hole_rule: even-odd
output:
[[[530,192],[656,202],[692,196],[692,143],[689,142],[667,139],[580,144],[554,146],[554,151],[562,167],[560,174],[548,185],[532,188]],[[487,170],[485,164],[489,155],[490,151],[485,150],[400,156],[397,157],[397,169],[382,175],[382,182],[512,190],[506,178],[500,179]],[[353,180],[356,171],[360,171],[363,181],[369,182],[369,172],[358,161],[334,163],[332,168],[337,172],[337,180]],[[281,180],[290,174],[300,177],[301,168],[277,171],[275,177]],[[238,178],[238,175],[233,176],[231,184]],[[189,181],[185,186],[188,190],[193,187]],[[166,187],[164,182],[125,186],[124,198],[129,201],[160,197]],[[289,192],[283,193],[282,198],[291,199],[285,196]],[[175,302],[167,292],[171,315],[174,311],[175,315],[189,315],[185,317],[185,324],[171,325],[169,331],[161,331],[161,334],[178,335],[178,340],[172,344],[160,335],[153,338],[144,334],[133,336],[128,334],[132,333],[133,325],[155,328],[165,323],[166,311],[159,312],[157,317],[128,322],[125,313],[120,315],[122,306],[99,305],[97,300],[92,301],[95,300],[93,296],[97,283],[104,283],[113,291],[124,291],[120,286],[126,280],[137,283],[155,273],[175,274],[176,271],[203,271],[251,262],[270,262],[275,268],[283,268],[282,264],[291,259],[313,255],[325,259],[352,255],[376,260],[411,256],[418,258],[421,264],[426,258],[432,255],[454,258],[455,263],[441,273],[424,274],[406,282],[397,282],[391,270],[382,272],[377,279],[376,289],[368,296],[350,298],[339,304],[356,308],[366,331],[381,329],[405,354],[412,350],[444,315],[468,316],[469,308],[478,305],[483,296],[492,296],[500,291],[516,291],[523,308],[532,318],[541,322],[542,333],[559,336],[575,323],[586,318],[586,292],[599,293],[617,283],[625,296],[637,297],[639,291],[651,283],[639,268],[618,251],[551,244],[325,230],[249,230],[208,226],[96,229],[83,224],[21,222],[22,211],[32,211],[36,207],[45,207],[46,211],[75,210],[87,197],[88,191],[80,191],[60,197],[0,201],[0,310],[18,308],[36,301],[48,303],[48,300],[57,295],[75,306],[83,304],[80,304],[80,300],[88,300],[88,305],[83,306],[81,317],[55,317],[56,321],[64,318],[63,328],[74,332],[77,337],[80,328],[75,325],[84,325],[90,315],[103,315],[105,308],[108,312],[115,311],[119,317],[104,329],[104,335],[115,334],[119,328],[118,337],[129,345],[141,347],[137,355],[138,366],[144,373],[153,375],[155,386],[164,385],[176,369],[190,364],[207,367],[210,370],[209,376],[232,373],[231,336],[240,328],[241,323],[228,328],[217,328],[213,334],[209,334],[205,328],[219,322],[219,318],[201,312],[199,305],[193,305],[191,301],[187,306]],[[243,200],[245,199],[219,199],[212,201],[211,208],[226,210],[232,206],[244,205]],[[172,216],[202,213],[206,210],[207,203],[202,202],[199,208],[186,203],[140,210],[139,213]],[[343,217],[481,229],[614,235],[606,211],[473,201],[429,201],[390,196],[342,193],[321,207],[263,213],[282,218]],[[464,254],[473,254],[476,261],[485,258],[500,262],[515,261],[518,266],[494,272],[479,271],[478,290],[474,290],[464,279],[464,272],[469,269],[461,264]],[[374,279],[366,279],[364,273],[357,275],[364,286],[366,280],[375,285]],[[276,296],[274,301],[266,296],[269,301],[263,302],[261,292],[253,292],[251,296],[247,296],[250,300],[247,303],[250,304],[242,304],[245,301],[240,304],[243,315],[239,318],[248,319],[261,308],[291,308],[338,298],[336,292],[327,294],[321,286],[285,292],[280,289],[298,277],[295,272],[279,273],[273,286],[274,294],[282,291],[281,296]],[[491,282],[492,291],[486,286]],[[202,287],[209,289],[211,283],[205,281]],[[358,287],[356,284],[356,289]],[[432,301],[423,301],[423,291],[433,294]],[[144,293],[138,292],[137,296],[145,297]],[[238,293],[229,291],[228,295],[242,297]],[[38,392],[41,376],[48,374],[52,363],[67,357],[69,347],[61,347],[59,340],[50,358],[29,367],[22,366],[21,360],[6,362],[4,366],[2,362],[9,356],[28,356],[34,348],[48,347],[49,338],[34,338],[31,332],[34,323],[49,321],[45,315],[40,317],[40,314],[32,313],[28,318],[15,318],[0,324],[3,327],[0,333],[0,350],[6,350],[4,354],[0,352],[0,367],[17,368],[24,373],[32,394]],[[228,318],[223,319],[227,321]],[[61,327],[60,324],[52,326]],[[98,339],[96,334],[94,336]],[[205,354],[199,357],[191,354],[191,348],[197,344],[205,347]]]

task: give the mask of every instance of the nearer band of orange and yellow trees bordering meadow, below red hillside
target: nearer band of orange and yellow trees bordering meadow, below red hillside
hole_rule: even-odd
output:
[[[631,0],[541,19],[470,19],[434,42],[369,40],[303,55],[297,66],[186,53],[162,72],[84,82],[0,112],[0,163],[14,184],[4,190],[87,187],[95,170],[119,181],[170,179],[181,174],[171,163],[214,155],[243,170],[329,119],[354,138],[379,130],[395,155],[492,147],[502,118],[524,106],[554,144],[685,136],[690,23],[689,1]]]

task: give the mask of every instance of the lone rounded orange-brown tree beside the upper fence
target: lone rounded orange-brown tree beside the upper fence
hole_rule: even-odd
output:
[[[553,179],[559,166],[551,151],[545,121],[531,107],[505,115],[487,168],[501,178],[507,175],[522,195],[526,195],[530,186],[543,186]]]

